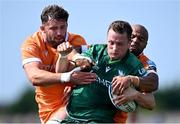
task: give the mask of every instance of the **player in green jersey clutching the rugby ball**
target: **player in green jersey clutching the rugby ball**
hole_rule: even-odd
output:
[[[97,80],[73,89],[67,106],[68,117],[63,122],[114,122],[118,110],[108,94],[113,77],[147,75],[142,63],[129,52],[131,33],[129,23],[114,21],[108,29],[107,45],[94,45],[83,53],[95,62],[91,71],[97,74]],[[138,78],[135,82],[138,83]]]

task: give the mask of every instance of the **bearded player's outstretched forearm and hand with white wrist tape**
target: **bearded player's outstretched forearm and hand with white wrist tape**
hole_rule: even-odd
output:
[[[25,72],[34,86],[46,86],[67,82],[89,84],[96,80],[95,73],[78,72],[79,68],[65,73],[52,73],[40,69],[40,66],[41,63],[39,62],[30,62],[24,65]]]

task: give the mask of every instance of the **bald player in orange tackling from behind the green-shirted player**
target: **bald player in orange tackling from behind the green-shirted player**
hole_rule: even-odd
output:
[[[144,26],[139,25],[139,24],[132,25],[132,29],[133,29],[133,32],[131,36],[132,42],[130,46],[130,51],[134,55],[136,55],[138,59],[143,63],[145,69],[149,70],[150,72],[149,77],[151,78],[151,80],[146,81],[146,83],[142,83],[142,81],[140,81],[138,89],[142,92],[153,92],[158,89],[158,75],[156,74],[156,65],[153,61],[151,61],[148,57],[146,57],[143,54],[143,50],[146,48],[147,41],[148,41],[148,31]],[[131,78],[137,78],[137,77],[131,76]],[[142,79],[139,79],[139,80],[142,80]],[[144,94],[148,95],[151,98],[149,102],[151,103],[151,101],[154,99],[154,96],[151,93],[144,93]],[[124,101],[128,101],[128,99],[126,100],[124,99]],[[154,105],[152,104],[153,106],[149,106],[150,104],[141,105],[141,103],[144,103],[144,102],[138,102],[138,103],[140,104],[140,106],[149,108],[149,109],[153,109],[155,107],[155,104]],[[118,112],[115,116],[115,121],[120,122],[120,123],[126,123],[127,117],[128,117],[127,113]],[[132,118],[136,119],[136,112],[133,113]],[[135,120],[132,120],[132,121],[135,121]]]

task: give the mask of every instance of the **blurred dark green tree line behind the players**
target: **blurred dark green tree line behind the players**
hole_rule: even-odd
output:
[[[157,111],[180,111],[180,82],[176,86],[158,89],[155,92],[156,110]],[[35,91],[28,88],[22,94],[21,98],[9,106],[0,106],[1,114],[25,114],[37,113],[38,107],[35,102]]]

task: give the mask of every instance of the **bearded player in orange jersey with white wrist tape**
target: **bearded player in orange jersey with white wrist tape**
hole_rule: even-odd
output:
[[[35,99],[43,124],[59,123],[64,119],[66,101],[64,94],[67,95],[68,92],[65,87],[71,85],[68,82],[88,84],[96,79],[96,75],[89,72],[55,73],[56,61],[58,56],[61,56],[57,52],[59,44],[63,42],[72,45],[86,44],[80,35],[67,32],[68,17],[68,12],[58,5],[45,7],[41,14],[40,30],[28,37],[21,48],[23,68],[35,86]],[[62,67],[61,72],[63,70]]]

